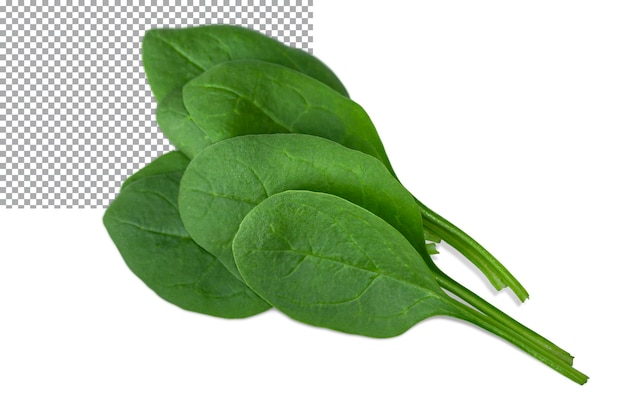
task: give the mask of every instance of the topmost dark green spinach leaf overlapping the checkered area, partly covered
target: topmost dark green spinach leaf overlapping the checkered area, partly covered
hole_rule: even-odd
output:
[[[213,65],[238,59],[284,65],[348,94],[330,68],[313,55],[239,26],[151,29],[143,39],[142,59],[157,101]]]

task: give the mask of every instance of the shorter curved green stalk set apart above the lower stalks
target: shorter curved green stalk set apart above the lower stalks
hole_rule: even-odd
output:
[[[467,233],[423,205],[417,199],[416,201],[421,207],[425,230],[440,236],[444,241],[463,254],[485,274],[487,279],[489,279],[497,290],[508,286],[520,301],[524,301],[528,298],[526,289],[524,289],[519,281],[491,253],[472,239]]]

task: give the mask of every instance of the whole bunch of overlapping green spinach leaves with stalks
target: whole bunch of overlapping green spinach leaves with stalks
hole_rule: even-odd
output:
[[[495,288],[528,296],[402,186],[369,116],[317,58],[214,25],[149,30],[143,62],[177,150],[129,177],[103,221],[156,294],[225,318],[275,307],[371,337],[452,316],[586,382],[569,353],[435,265],[445,240]]]

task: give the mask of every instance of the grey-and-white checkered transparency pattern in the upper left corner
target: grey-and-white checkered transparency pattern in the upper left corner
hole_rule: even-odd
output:
[[[0,5],[0,207],[106,207],[172,149],[143,72],[146,30],[228,23],[312,43],[312,0],[25,3]]]

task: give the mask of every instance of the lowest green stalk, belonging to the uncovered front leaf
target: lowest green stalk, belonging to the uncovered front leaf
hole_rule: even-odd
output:
[[[474,325],[501,337],[577,384],[583,385],[589,379],[587,375],[572,367],[570,363],[564,361],[559,355],[556,355],[550,350],[537,348],[532,341],[529,341],[527,338],[510,329],[507,329],[506,327],[503,327],[501,323],[497,322],[493,318],[482,315],[478,311],[473,310],[455,299],[451,299],[451,303],[452,306],[455,307],[451,312],[452,316],[473,323]]]

